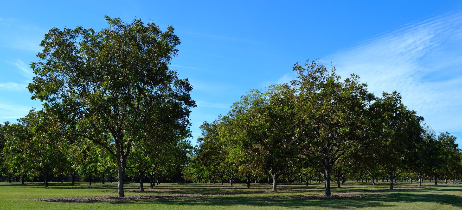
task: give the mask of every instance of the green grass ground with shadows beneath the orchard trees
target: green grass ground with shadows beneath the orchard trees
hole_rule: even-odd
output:
[[[336,186],[335,183],[333,183]],[[432,183],[425,183],[427,186]],[[462,209],[462,184],[416,188],[414,184],[377,186],[347,182],[341,188],[333,188],[334,198],[324,199],[322,185],[291,183],[278,186],[278,192],[270,192],[269,184],[203,184],[163,183],[145,192],[136,192],[137,183],[126,183],[129,195],[174,195],[174,198],[124,199],[117,201],[47,202],[37,198],[117,196],[116,183],[92,184],[50,183],[0,183],[0,209]],[[182,196],[182,197],[181,197]]]

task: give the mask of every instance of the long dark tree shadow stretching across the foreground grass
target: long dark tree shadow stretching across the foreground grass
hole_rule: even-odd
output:
[[[458,189],[438,189],[441,191],[459,191]],[[397,207],[399,203],[438,203],[451,207],[462,208],[462,197],[450,194],[432,194],[431,192],[395,192],[381,195],[352,195],[348,198],[337,197],[336,193],[333,198],[326,199],[321,196],[307,195],[257,195],[252,197],[243,197],[239,195],[221,195],[221,196],[181,196],[181,195],[162,195],[155,197],[138,197],[130,198],[109,198],[105,200],[109,204],[170,204],[180,206],[231,206],[245,205],[251,207],[287,207],[299,208],[303,206],[311,207],[328,207],[332,209],[348,208],[371,208],[371,207]],[[100,203],[101,200],[95,197],[87,199],[67,199],[67,200],[48,200],[52,202],[75,202],[75,203]]]

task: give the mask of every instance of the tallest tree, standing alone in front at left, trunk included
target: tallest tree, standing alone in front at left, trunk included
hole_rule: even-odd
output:
[[[172,26],[161,31],[140,19],[106,20],[109,27],[100,31],[50,29],[40,61],[31,64],[37,76],[28,88],[32,99],[73,113],[80,135],[116,157],[123,197],[127,157],[140,130],[164,121],[188,132],[195,102],[188,79],[169,69],[180,44]]]

